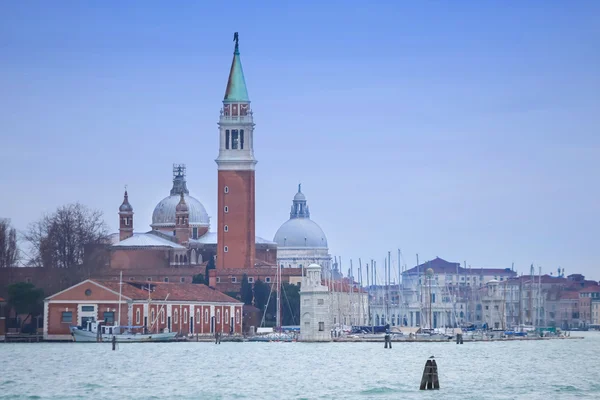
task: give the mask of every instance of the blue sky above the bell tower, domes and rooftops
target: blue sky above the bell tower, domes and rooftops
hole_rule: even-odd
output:
[[[344,269],[401,248],[599,279],[600,3],[391,3],[3,2],[0,214],[80,201],[116,230],[127,184],[145,230],[181,162],[214,228],[238,31],[258,235],[302,182]]]

